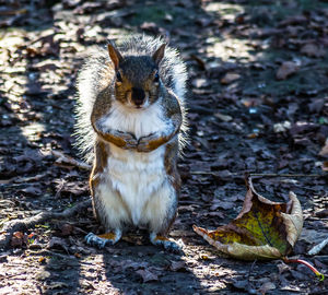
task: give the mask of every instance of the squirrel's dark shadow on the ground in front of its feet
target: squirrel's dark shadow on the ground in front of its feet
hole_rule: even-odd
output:
[[[125,239],[125,238],[124,238]],[[194,294],[202,287],[188,269],[184,252],[169,252],[151,245],[125,240],[103,253],[106,280],[120,294]]]

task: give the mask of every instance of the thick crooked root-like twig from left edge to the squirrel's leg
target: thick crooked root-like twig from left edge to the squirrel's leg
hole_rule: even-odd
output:
[[[4,223],[0,235],[0,248],[7,248],[14,232],[26,231],[36,224],[50,222],[52,220],[66,220],[78,212],[81,212],[91,205],[91,200],[83,201],[72,208],[66,209],[63,212],[40,212],[35,216],[24,220],[13,220]]]

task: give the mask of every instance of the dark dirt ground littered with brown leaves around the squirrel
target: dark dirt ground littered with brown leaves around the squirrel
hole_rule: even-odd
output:
[[[79,160],[74,85],[87,50],[137,32],[162,35],[188,66],[190,140],[171,232],[184,255],[142,232],[89,247],[85,234],[102,229],[89,208],[0,245],[0,294],[328,294],[302,264],[229,259],[192,231],[238,214],[249,172],[272,201],[297,194],[305,220],[291,256],[328,274],[327,246],[307,255],[328,236],[324,0],[0,0],[1,225],[90,199],[90,172],[51,151]]]

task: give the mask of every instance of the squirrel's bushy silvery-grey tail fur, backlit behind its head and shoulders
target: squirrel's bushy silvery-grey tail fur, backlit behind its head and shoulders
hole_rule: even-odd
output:
[[[125,38],[121,43],[118,42],[116,46],[122,57],[151,57],[163,43],[161,38],[133,35]],[[177,95],[180,103],[183,125],[181,132],[179,132],[179,150],[181,150],[186,142],[187,131],[185,110],[187,72],[176,49],[166,46],[164,58],[160,63],[160,75],[163,84]],[[96,138],[90,121],[93,105],[99,92],[108,86],[114,87],[113,83],[114,64],[107,50],[97,48],[97,51],[86,59],[78,76],[75,145],[87,162],[93,161],[93,146]]]

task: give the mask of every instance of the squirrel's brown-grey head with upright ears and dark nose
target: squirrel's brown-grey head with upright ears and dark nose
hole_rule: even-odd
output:
[[[159,98],[161,78],[159,64],[164,57],[165,44],[152,56],[122,57],[108,44],[109,57],[115,67],[116,99],[133,108],[145,108]]]

